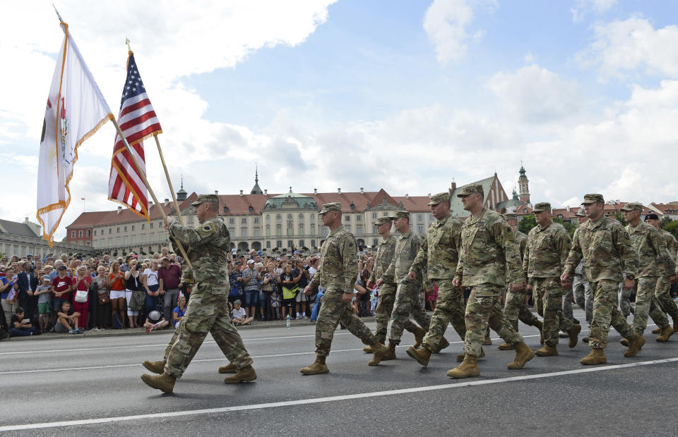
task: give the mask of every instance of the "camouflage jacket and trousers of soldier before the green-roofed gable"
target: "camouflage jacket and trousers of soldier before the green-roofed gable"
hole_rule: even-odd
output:
[[[511,283],[523,283],[521,254],[511,226],[491,209],[483,208],[461,228],[461,254],[455,278],[472,287],[465,312],[464,351],[477,357],[487,326],[510,345],[523,342],[501,311],[499,297],[506,286],[507,268]]]

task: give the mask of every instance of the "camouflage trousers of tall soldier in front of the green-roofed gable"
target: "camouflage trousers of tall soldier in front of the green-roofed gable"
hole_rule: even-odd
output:
[[[523,342],[523,337],[513,329],[511,322],[501,312],[499,298],[502,290],[504,290],[503,285],[489,283],[474,285],[471,290],[464,316],[466,323],[464,352],[468,355],[475,357],[480,355],[480,347],[487,333],[487,326],[510,345]]]

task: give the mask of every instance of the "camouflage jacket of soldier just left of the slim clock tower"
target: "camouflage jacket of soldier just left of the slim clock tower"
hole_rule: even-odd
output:
[[[525,278],[558,278],[563,271],[572,240],[560,223],[537,225],[528,233],[528,245],[523,258]]]

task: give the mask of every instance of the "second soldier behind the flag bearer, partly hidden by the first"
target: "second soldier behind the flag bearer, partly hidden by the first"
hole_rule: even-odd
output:
[[[388,269],[393,260],[393,253],[396,252],[396,237],[391,235],[391,226],[393,219],[391,217],[379,217],[374,223],[376,232],[381,235],[381,244],[376,250],[376,259],[374,260],[374,269],[369,276],[367,285],[376,283]],[[376,331],[374,337],[379,343],[386,343],[386,334],[388,333],[388,320],[391,319],[393,312],[393,302],[396,302],[396,285],[392,283],[383,283],[379,288],[379,303],[374,311],[376,315]],[[364,347],[365,352],[373,353],[370,346]]]

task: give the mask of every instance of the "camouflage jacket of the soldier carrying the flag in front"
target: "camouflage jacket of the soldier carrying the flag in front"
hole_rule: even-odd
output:
[[[227,254],[231,239],[226,223],[220,217],[211,217],[197,228],[187,228],[177,221],[169,223],[169,236],[179,241],[193,265],[193,271],[184,271],[184,276],[205,283],[229,288]],[[213,287],[213,290],[216,290]]]

